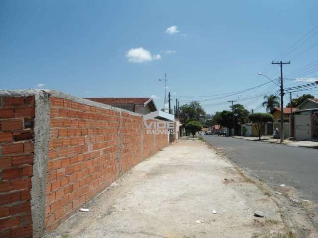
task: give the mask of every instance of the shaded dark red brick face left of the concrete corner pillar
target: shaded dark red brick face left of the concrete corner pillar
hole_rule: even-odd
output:
[[[0,237],[32,237],[34,96],[0,98]]]

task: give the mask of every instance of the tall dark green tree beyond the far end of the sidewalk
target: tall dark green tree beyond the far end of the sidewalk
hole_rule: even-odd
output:
[[[198,102],[191,102],[190,104],[184,104],[180,107],[179,119],[185,128],[186,134],[188,134],[185,125],[191,120],[197,120],[201,123],[204,122],[206,113]]]

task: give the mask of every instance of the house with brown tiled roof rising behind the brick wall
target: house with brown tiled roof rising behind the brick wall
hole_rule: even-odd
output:
[[[122,108],[128,111],[149,114],[157,111],[157,107],[152,98],[86,98],[88,100],[107,104],[115,108]]]

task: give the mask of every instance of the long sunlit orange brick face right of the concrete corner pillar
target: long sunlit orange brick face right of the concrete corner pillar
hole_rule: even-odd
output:
[[[154,151],[155,136],[142,131],[141,116],[62,98],[50,101],[46,231],[167,145],[167,135],[156,135]]]

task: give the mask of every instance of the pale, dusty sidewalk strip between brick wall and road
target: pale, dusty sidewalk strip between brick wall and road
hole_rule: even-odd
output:
[[[290,229],[265,190],[192,140],[159,151],[84,207],[46,238],[257,238]]]

